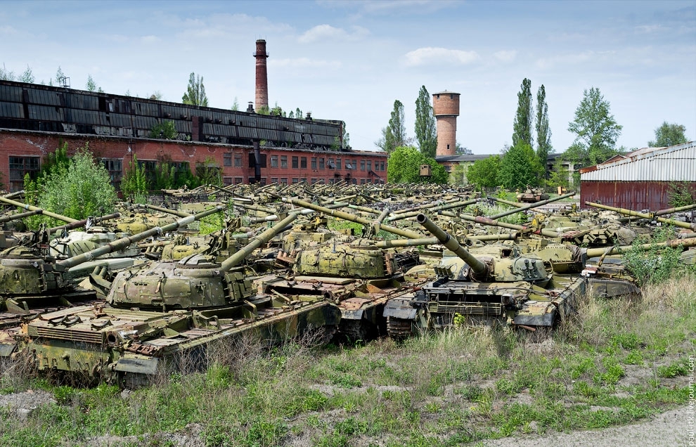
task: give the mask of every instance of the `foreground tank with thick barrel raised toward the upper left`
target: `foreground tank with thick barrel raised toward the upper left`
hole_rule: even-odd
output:
[[[574,312],[585,292],[584,278],[554,275],[550,262],[522,254],[515,245],[491,244],[469,252],[425,214],[417,220],[452,254],[435,268],[436,280],[387,302],[384,316],[392,337],[467,320],[550,328]]]

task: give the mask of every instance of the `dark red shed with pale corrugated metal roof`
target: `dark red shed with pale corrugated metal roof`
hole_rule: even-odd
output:
[[[696,195],[696,143],[643,148],[580,169],[580,200],[628,209],[669,208],[678,186]]]

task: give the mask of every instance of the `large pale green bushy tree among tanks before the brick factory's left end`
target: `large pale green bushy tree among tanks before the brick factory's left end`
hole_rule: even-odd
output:
[[[54,164],[39,190],[39,207],[72,219],[112,212],[116,201],[109,173],[94,160],[88,145],[77,150],[69,163]]]

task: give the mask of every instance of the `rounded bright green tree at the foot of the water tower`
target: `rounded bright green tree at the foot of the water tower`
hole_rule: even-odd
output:
[[[420,165],[429,164],[431,176],[420,177]],[[412,146],[399,146],[389,154],[387,181],[390,183],[447,183],[447,171],[442,164]]]

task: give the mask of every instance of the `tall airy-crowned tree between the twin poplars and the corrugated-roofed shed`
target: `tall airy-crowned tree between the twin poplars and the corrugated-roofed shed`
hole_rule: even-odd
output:
[[[600,89],[585,90],[568,130],[576,135],[566,151],[569,160],[598,164],[617,154],[617,139],[623,127],[617,124]]]

